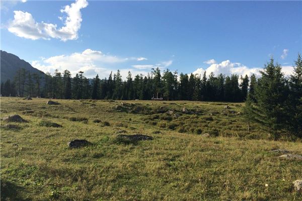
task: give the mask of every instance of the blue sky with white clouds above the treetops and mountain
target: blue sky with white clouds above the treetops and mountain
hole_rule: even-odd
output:
[[[87,77],[157,66],[250,74],[271,55],[288,74],[302,52],[301,11],[302,2],[2,2],[1,49]]]

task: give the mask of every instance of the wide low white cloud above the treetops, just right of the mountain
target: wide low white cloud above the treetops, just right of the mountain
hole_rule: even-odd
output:
[[[34,60],[31,64],[43,72],[53,73],[55,69],[63,72],[67,69],[72,76],[75,76],[79,71],[83,71],[88,78],[95,77],[97,74],[99,74],[100,78],[105,78],[109,76],[111,70],[114,73],[117,71],[116,64],[129,61],[135,62],[137,57],[121,58],[103,54],[101,51],[86,49],[83,52],[75,52],[70,55],[41,57],[40,60]],[[164,66],[164,64],[161,63],[161,66]],[[155,65],[133,65],[131,68],[121,68],[120,71],[123,79],[126,79],[129,70],[132,75],[147,75],[153,67]]]

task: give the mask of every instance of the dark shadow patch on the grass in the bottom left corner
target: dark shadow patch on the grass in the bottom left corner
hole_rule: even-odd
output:
[[[18,186],[15,183],[12,183],[10,181],[1,180],[1,200],[30,200],[30,199],[23,199],[20,196],[20,192],[24,191],[24,187]]]

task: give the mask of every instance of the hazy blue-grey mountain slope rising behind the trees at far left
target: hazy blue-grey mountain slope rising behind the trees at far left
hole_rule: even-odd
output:
[[[30,63],[6,51],[0,50],[0,58],[1,82],[5,82],[8,79],[14,80],[16,72],[19,68],[25,68],[25,70],[30,71],[31,73],[40,72],[44,74],[44,72],[30,65]]]

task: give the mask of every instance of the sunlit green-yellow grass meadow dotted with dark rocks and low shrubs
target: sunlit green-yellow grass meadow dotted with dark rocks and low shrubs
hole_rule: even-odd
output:
[[[301,155],[301,141],[248,133],[243,104],[47,100],[1,97],[1,118],[28,121],[1,122],[1,200],[302,200],[302,162],[270,152]]]

